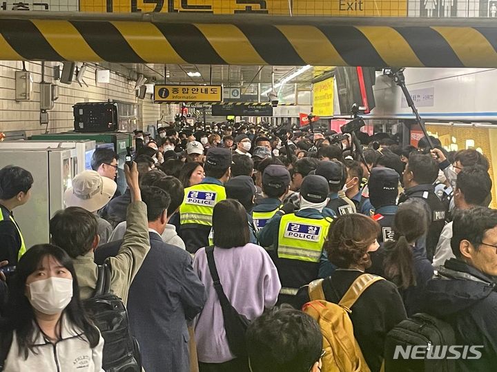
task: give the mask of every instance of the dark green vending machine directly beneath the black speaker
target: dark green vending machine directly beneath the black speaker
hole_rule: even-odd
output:
[[[135,139],[132,133],[54,133],[54,134],[37,134],[30,138],[36,141],[81,141],[92,140],[97,143],[97,148],[101,145],[113,144],[113,149],[119,156],[117,168],[117,188],[121,194],[126,191],[126,178],[124,176],[124,163],[126,161],[126,147],[135,148]]]

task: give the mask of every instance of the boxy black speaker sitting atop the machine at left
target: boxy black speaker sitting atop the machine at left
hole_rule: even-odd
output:
[[[119,129],[117,103],[76,103],[72,108],[75,132],[116,132]]]

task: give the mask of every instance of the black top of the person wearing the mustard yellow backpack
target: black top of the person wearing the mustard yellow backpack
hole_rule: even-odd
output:
[[[358,270],[335,270],[323,281],[326,300],[338,304],[361,274]],[[309,302],[309,288],[302,287],[297,298],[299,307]],[[373,283],[352,305],[351,311],[355,339],[364,359],[372,372],[380,371],[387,333],[407,318],[397,286],[388,280]]]

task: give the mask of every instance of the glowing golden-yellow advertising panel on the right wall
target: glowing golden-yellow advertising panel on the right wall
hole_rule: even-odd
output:
[[[447,151],[461,149],[476,149],[487,156],[490,169],[489,174],[494,183],[492,188],[491,207],[497,208],[497,125],[492,127],[467,127],[453,125],[427,125],[428,134],[435,136]]]

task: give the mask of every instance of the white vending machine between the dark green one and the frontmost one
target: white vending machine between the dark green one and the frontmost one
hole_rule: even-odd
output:
[[[91,169],[91,158],[95,152],[95,141],[3,141],[0,149],[76,149],[77,173]]]

